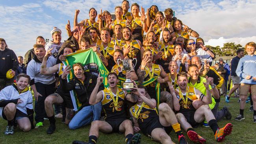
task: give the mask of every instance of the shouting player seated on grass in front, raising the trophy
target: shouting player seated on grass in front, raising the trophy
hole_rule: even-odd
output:
[[[141,135],[139,133],[134,135],[132,122],[126,119],[124,109],[126,100],[136,102],[137,98],[117,87],[119,79],[116,73],[110,72],[107,79],[109,87],[97,93],[97,89],[102,85],[103,81],[103,77],[100,77],[100,74],[98,75],[97,84],[89,99],[89,103],[92,105],[102,103],[106,115],[105,121],[96,120],[91,123],[89,142],[74,141],[73,144],[96,144],[99,131],[104,133],[124,133],[126,144],[140,143]]]

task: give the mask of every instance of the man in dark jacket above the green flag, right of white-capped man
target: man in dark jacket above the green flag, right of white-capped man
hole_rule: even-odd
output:
[[[74,26],[73,31],[72,31],[72,36],[69,37],[67,39],[67,41],[65,41],[63,43],[63,45],[61,46],[61,49],[59,50],[59,54],[58,54],[58,63],[61,63],[61,61],[66,60],[65,55],[63,55],[63,50],[64,50],[65,47],[70,46],[72,48],[73,52],[75,52],[77,50],[80,50],[79,43],[78,43],[78,41],[79,41],[79,30],[80,30],[80,27]]]

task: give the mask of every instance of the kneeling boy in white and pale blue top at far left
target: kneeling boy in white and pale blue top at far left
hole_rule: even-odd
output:
[[[0,92],[0,116],[8,121],[5,134],[13,134],[15,121],[22,131],[33,128],[33,97],[28,88],[30,76],[19,74],[16,83]]]

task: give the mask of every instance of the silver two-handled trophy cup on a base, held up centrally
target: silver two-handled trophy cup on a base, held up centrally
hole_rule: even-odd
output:
[[[132,61],[136,61],[135,65],[137,64],[137,59],[134,58],[134,59],[117,59],[117,65],[122,68],[122,70],[126,71],[126,72],[130,72],[130,70],[134,69],[133,65],[132,65]],[[122,67],[119,65],[119,61],[122,61]],[[123,90],[132,90],[134,89],[134,83],[130,80],[130,79],[127,79],[125,80],[124,83],[122,83],[122,87],[123,87]]]

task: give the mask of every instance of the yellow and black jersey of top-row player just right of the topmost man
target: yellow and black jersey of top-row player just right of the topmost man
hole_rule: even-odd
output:
[[[132,20],[132,39],[139,40],[143,42],[143,26],[142,21],[139,18]]]

